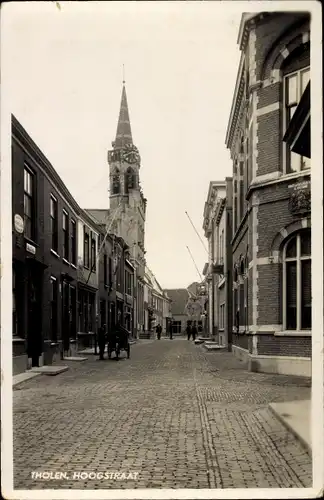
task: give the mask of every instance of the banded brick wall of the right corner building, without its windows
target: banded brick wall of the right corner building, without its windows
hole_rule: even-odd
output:
[[[310,227],[310,213],[291,210],[292,191],[309,181],[310,170],[287,171],[282,141],[284,77],[310,65],[309,16],[258,14],[242,21],[241,34],[227,132],[235,211],[233,345],[253,356],[310,357],[308,331],[285,334],[282,253],[290,235]],[[238,161],[244,165],[243,186]]]

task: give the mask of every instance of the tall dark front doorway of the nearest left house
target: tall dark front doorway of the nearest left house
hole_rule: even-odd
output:
[[[39,366],[43,352],[42,342],[42,276],[37,265],[30,262],[27,268],[27,355],[32,366]]]

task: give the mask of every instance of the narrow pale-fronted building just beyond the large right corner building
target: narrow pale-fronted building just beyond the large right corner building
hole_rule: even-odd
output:
[[[232,178],[211,182],[204,209],[203,229],[208,240],[209,333],[231,350],[232,339]]]

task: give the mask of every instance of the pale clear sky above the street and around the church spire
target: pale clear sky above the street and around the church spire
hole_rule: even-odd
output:
[[[82,208],[108,208],[107,151],[123,64],[148,200],[147,264],[187,287],[208,254],[209,182],[231,176],[225,146],[244,2],[19,2],[2,6],[10,109]]]

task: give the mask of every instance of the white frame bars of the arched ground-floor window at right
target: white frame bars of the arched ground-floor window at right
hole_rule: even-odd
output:
[[[303,260],[311,260],[312,255],[301,255],[301,242],[300,242],[300,236],[302,234],[302,231],[299,231],[298,233],[293,233],[290,238],[287,239],[285,242],[283,252],[282,252],[282,272],[283,272],[283,279],[282,279],[282,290],[283,290],[283,296],[282,296],[282,304],[283,304],[283,310],[282,310],[282,318],[283,318],[283,329],[284,331],[287,332],[300,332],[300,333],[307,333],[311,332],[311,329],[302,329],[301,328],[301,323],[302,323],[302,316],[301,316],[301,293],[302,293],[302,287],[301,287],[301,262]],[[286,250],[287,250],[287,245],[290,242],[292,238],[296,237],[296,257],[286,257]],[[287,262],[296,262],[296,303],[297,303],[297,318],[296,318],[296,329],[287,329]]]

